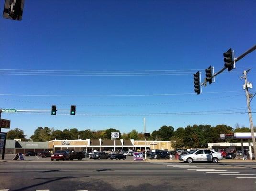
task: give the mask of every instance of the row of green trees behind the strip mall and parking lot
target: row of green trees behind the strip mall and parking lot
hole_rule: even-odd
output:
[[[120,137],[118,139],[134,139],[134,140],[144,140],[144,133],[138,132],[136,129],[131,130],[128,133],[122,133],[114,128],[109,128],[106,130],[96,130],[91,129],[79,131],[77,128],[55,130],[49,127],[38,127],[30,139],[26,138],[24,131],[16,128],[10,130],[7,133],[7,139],[19,138],[22,141],[49,141],[53,139],[110,139],[111,132],[119,132]],[[147,140],[163,140],[172,141],[172,146],[174,148],[206,148],[207,143],[223,142],[220,139],[220,134],[223,133],[234,133],[234,132],[251,132],[250,128],[241,126],[239,124],[235,125],[233,129],[227,125],[188,125],[187,127],[179,127],[176,130],[172,126],[162,126],[158,130],[153,131]],[[232,140],[235,142],[236,140]]]

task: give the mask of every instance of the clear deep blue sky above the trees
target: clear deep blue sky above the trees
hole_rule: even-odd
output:
[[[3,4],[1,0],[0,10]],[[256,85],[256,52],[239,61],[237,69],[217,76],[215,83],[203,88],[203,94],[184,93],[194,92],[192,74],[197,70],[204,72],[210,65],[216,71],[223,68],[223,52],[230,47],[238,56],[255,45],[255,10],[253,0],[26,0],[22,21],[0,18],[0,107],[51,109],[56,104],[57,109],[69,109],[76,105],[77,115],[61,115],[69,112],[60,111],[56,116],[50,112],[3,113],[2,118],[11,120],[11,129],[21,128],[28,137],[39,126],[140,132],[144,130],[143,117],[148,132],[163,125],[176,129],[189,124],[234,127],[239,123],[249,127],[246,113],[220,113],[246,112],[243,80],[239,78],[243,70],[252,68],[248,79]],[[2,69],[57,70],[61,76]],[[70,70],[78,71],[73,74]],[[158,74],[148,75],[152,70]],[[88,76],[95,75],[92,72],[76,74],[81,71],[95,71],[98,76]],[[99,76],[113,75],[106,71],[125,74]],[[147,76],[134,76],[138,75],[134,71]],[[21,94],[66,96],[17,96]],[[149,94],[178,95],[106,96]],[[255,104],[256,99],[251,102],[253,111]],[[212,115],[216,110],[222,111]],[[143,115],[196,111],[207,112]],[[91,113],[97,115],[78,115]]]

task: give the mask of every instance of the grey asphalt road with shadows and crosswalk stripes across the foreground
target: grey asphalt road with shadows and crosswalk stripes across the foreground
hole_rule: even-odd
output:
[[[0,189],[255,191],[256,163],[7,161],[0,162]]]

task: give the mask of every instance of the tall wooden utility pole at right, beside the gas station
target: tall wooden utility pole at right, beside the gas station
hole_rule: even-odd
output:
[[[250,128],[251,128],[251,134],[252,134],[252,142],[253,142],[253,153],[254,153],[254,159],[256,159],[256,144],[255,144],[255,137],[254,137],[254,130],[253,130],[253,119],[252,119],[252,113],[251,113],[250,98],[249,98],[249,92],[248,92],[248,87],[247,87],[247,72],[246,72],[246,70],[244,70],[244,78],[245,78],[246,101],[247,101],[248,115],[249,115]]]

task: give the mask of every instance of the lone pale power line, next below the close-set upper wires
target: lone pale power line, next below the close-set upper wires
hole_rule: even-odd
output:
[[[204,94],[219,94],[243,92],[238,91],[222,91],[222,92],[204,92]],[[169,93],[169,94],[137,94],[137,95],[45,95],[45,94],[0,94],[1,96],[54,96],[54,97],[124,97],[124,96],[177,96],[177,95],[194,95],[195,93]]]

